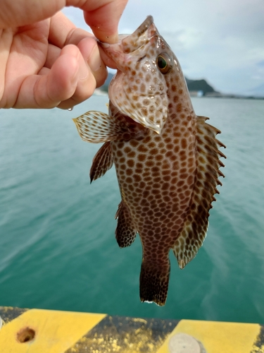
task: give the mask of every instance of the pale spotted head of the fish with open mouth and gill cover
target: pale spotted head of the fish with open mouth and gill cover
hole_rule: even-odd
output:
[[[161,133],[172,80],[176,76],[184,80],[184,76],[152,16],[132,35],[120,35],[118,43],[101,43],[101,47],[118,68],[108,88],[113,105],[142,126]]]

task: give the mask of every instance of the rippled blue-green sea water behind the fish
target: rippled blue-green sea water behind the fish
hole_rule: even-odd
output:
[[[193,99],[222,131],[226,177],[196,258],[180,270],[171,254],[164,307],[139,300],[139,237],[115,241],[115,169],[89,184],[99,145],[72,118],[107,101],[1,109],[0,306],[264,323],[264,100]]]

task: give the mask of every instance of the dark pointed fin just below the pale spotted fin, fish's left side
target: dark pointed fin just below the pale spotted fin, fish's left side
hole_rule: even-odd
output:
[[[94,156],[92,167],[90,169],[90,179],[92,181],[103,177],[113,165],[113,152],[110,141],[103,143],[102,147]]]

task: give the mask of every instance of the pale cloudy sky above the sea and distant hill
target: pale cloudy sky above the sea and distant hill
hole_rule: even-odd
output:
[[[80,9],[63,12],[89,30]],[[223,93],[264,95],[264,0],[129,0],[119,33],[134,32],[148,15],[187,78],[205,78]]]

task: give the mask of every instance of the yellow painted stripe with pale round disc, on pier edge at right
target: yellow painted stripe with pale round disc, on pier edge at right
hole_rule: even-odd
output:
[[[259,332],[260,325],[255,323],[182,320],[157,353],[170,353],[168,342],[176,333],[187,333],[196,338],[209,353],[251,353]]]

